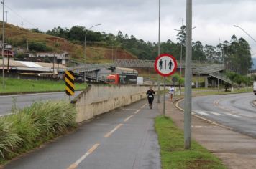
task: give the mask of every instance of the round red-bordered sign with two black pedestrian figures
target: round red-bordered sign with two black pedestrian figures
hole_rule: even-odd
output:
[[[177,69],[175,57],[170,54],[160,54],[155,59],[155,71],[163,77],[172,75]]]

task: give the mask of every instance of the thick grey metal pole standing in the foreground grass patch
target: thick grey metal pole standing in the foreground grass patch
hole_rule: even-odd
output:
[[[184,105],[184,148],[191,149],[191,82],[192,82],[192,0],[186,1],[186,69]]]

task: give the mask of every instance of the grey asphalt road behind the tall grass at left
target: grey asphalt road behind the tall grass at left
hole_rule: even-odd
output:
[[[76,97],[81,91],[76,91]],[[12,110],[13,100],[16,98],[16,105],[18,108],[23,108],[32,104],[32,102],[40,100],[68,100],[65,92],[49,92],[49,93],[35,93],[26,95],[4,95],[0,96],[0,115],[6,115]]]

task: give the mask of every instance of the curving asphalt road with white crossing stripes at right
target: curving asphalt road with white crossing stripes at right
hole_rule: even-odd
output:
[[[256,107],[253,93],[193,97],[193,113],[244,135],[256,137]],[[183,107],[183,102],[180,102]]]

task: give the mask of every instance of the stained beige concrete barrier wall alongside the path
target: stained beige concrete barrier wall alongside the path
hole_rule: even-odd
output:
[[[73,100],[76,104],[76,122],[83,122],[117,107],[145,99],[148,89],[149,86],[137,85],[89,86]],[[154,86],[153,90],[156,92],[157,87]]]

